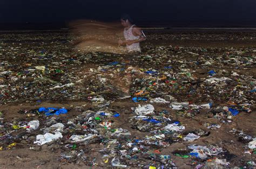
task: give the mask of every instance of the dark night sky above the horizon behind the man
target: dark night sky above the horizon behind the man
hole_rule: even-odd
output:
[[[0,23],[118,19],[179,22],[256,22],[256,0],[1,0]]]

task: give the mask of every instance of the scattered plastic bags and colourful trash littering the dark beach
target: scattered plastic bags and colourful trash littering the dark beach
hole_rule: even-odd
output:
[[[151,33],[149,40],[227,38],[222,33]],[[15,109],[15,118],[0,109],[0,151],[47,147],[61,151],[61,163],[83,161],[90,167],[170,168],[179,167],[179,160],[196,168],[255,167],[255,136],[230,131],[237,119],[254,113],[255,48],[147,44],[137,54],[97,47],[84,53],[87,49],[71,46],[79,37],[67,32],[0,37],[0,105],[35,104]],[[120,86],[130,88],[131,98],[117,101]],[[56,101],[84,106],[39,106]],[[225,142],[208,143],[212,133],[217,137],[225,128],[237,138],[227,144],[242,144],[246,160],[226,158],[231,151]],[[173,151],[176,144],[186,150]]]

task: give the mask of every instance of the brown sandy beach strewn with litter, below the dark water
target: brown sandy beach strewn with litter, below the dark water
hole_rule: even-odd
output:
[[[114,45],[83,49],[91,35],[69,30],[0,32],[1,168],[195,168],[216,159],[230,163],[222,167],[255,167],[248,143],[256,137],[256,31],[144,32],[142,52],[132,54]],[[99,39],[118,37],[122,32]],[[125,83],[128,67],[131,98],[117,100],[112,89]],[[135,117],[147,104],[153,112]],[[68,112],[46,116],[42,107]],[[33,120],[38,129],[22,127]],[[56,123],[64,124],[62,138],[34,143]],[[164,129],[174,123],[184,129]],[[200,137],[185,140],[189,133]],[[93,139],[72,142],[75,135]],[[193,144],[221,151],[194,156]]]

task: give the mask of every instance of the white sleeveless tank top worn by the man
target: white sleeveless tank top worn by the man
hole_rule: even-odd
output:
[[[139,39],[139,36],[134,36],[132,34],[132,27],[135,25],[132,25],[129,29],[126,30],[126,28],[124,29],[124,38],[125,40],[136,40]],[[138,51],[140,52],[140,47],[139,47],[139,43],[134,43],[131,45],[126,45],[128,52],[132,52],[132,51]]]

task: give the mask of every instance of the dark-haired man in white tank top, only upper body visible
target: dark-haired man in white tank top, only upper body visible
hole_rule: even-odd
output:
[[[136,25],[132,24],[132,19],[125,14],[121,17],[121,24],[124,28],[125,40],[119,40],[118,44],[127,47],[128,52],[140,52],[139,43],[146,40],[145,34]]]

